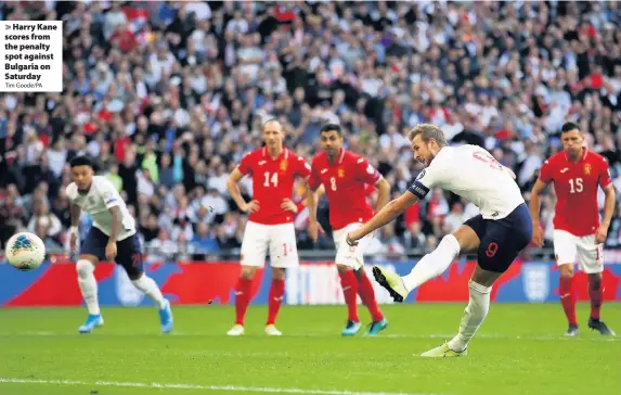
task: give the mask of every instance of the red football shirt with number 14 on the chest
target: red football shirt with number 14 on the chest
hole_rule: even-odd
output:
[[[301,156],[287,149],[272,158],[266,148],[246,154],[238,167],[244,175],[253,176],[253,199],[259,202],[259,211],[250,213],[248,220],[263,225],[287,224],[295,214],[285,212],[281,204],[293,199],[296,177],[307,178],[310,166]]]

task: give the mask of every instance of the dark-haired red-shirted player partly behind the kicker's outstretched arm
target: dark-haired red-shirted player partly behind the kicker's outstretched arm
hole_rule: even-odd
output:
[[[349,246],[345,240],[348,232],[358,229],[371,217],[373,208],[366,201],[366,186],[379,190],[377,209],[381,208],[390,194],[390,184],[370,165],[366,160],[342,149],[342,132],[338,125],[329,124],[321,128],[323,152],[315,155],[309,178],[309,237],[316,241],[319,224],[316,219],[316,190],[323,184],[329,205],[329,224],[336,246],[336,266],[348,308],[348,320],[341,334],[352,336],[360,330],[358,318],[358,294],[368,308],[373,322],[366,335],[376,335],[388,326],[375,300],[375,291],[364,271],[364,249],[370,238],[364,238],[357,246]]]

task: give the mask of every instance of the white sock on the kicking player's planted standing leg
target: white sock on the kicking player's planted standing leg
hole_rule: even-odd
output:
[[[491,286],[484,286],[470,280],[470,302],[464,310],[464,317],[460,323],[460,333],[449,341],[449,347],[454,352],[463,352],[486,319],[490,310]]]

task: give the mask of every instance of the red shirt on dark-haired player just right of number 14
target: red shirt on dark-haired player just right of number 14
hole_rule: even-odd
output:
[[[373,217],[366,200],[367,184],[375,184],[381,175],[360,155],[341,150],[335,163],[325,152],[312,161],[309,187],[324,184],[329,204],[329,225],[334,230],[349,224],[365,222]]]

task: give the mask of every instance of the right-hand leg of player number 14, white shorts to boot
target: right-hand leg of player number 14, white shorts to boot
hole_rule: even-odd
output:
[[[270,263],[272,265],[272,284],[268,302],[266,334],[280,336],[276,318],[285,296],[285,270],[299,266],[296,229],[293,224],[273,225],[270,234]]]

